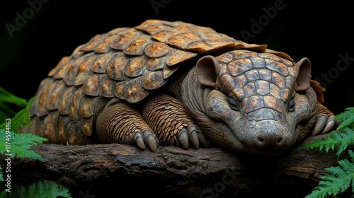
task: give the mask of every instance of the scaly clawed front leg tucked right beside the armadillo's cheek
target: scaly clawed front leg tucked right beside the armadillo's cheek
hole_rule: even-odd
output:
[[[144,105],[142,115],[154,130],[159,144],[182,146],[185,149],[189,147],[189,142],[195,148],[199,147],[199,143],[209,146],[202,132],[185,112],[182,103],[171,95],[154,96]]]

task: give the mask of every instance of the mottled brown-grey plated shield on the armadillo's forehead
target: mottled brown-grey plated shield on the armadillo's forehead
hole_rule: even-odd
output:
[[[249,119],[253,111],[268,107],[279,112],[295,92],[293,62],[268,53],[236,50],[217,57],[222,62],[219,88],[243,103]],[[277,118],[277,117],[275,117]]]

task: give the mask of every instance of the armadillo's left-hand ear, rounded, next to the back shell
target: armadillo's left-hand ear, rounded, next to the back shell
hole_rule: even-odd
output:
[[[217,87],[217,75],[221,70],[219,62],[213,56],[201,57],[196,65],[198,81],[208,87]]]

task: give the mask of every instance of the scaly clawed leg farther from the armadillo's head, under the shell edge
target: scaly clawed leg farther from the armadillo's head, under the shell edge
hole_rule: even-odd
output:
[[[110,100],[96,120],[98,138],[105,143],[146,145],[156,151],[159,141],[139,111],[117,98]]]

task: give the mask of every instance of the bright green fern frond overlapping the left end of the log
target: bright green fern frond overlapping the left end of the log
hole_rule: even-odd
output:
[[[10,154],[12,158],[16,155],[19,157],[33,158],[39,161],[44,161],[42,156],[35,151],[31,150],[31,146],[37,146],[42,144],[42,141],[47,141],[47,139],[35,134],[15,134],[11,132],[10,136],[6,136],[6,129],[0,129],[0,153]],[[6,143],[9,142],[10,144]],[[6,145],[8,147],[6,147]]]

